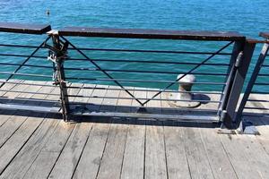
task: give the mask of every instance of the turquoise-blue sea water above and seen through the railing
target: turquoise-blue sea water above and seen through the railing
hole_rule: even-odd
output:
[[[268,0],[0,0],[0,21],[48,23],[52,28],[59,30],[66,26],[103,27],[103,28],[134,28],[157,30],[228,30],[239,31],[250,38],[258,38],[258,32],[269,31]],[[47,10],[49,15],[47,15]],[[46,38],[43,36],[20,35],[0,33],[0,44],[21,44],[39,46]],[[149,50],[177,50],[195,52],[216,52],[227,42],[194,42],[177,40],[148,40],[148,39],[119,39],[119,38],[69,38],[76,47],[91,48],[117,48],[117,49],[149,49]],[[253,69],[256,58],[261,49],[256,46],[254,60],[250,66]],[[34,49],[11,48],[0,46],[0,63],[22,63],[25,58],[6,56],[3,54],[30,55]],[[229,53],[231,47],[223,52]],[[91,59],[122,59],[122,60],[146,60],[166,62],[193,62],[199,63],[209,55],[182,55],[182,54],[154,54],[154,53],[123,53],[106,51],[86,51]],[[40,50],[36,55],[46,56],[46,50]],[[73,58],[83,58],[75,51],[70,51]],[[229,64],[230,56],[216,55],[208,63]],[[50,65],[45,58],[31,58],[27,64]],[[191,70],[195,65],[182,64],[143,64],[143,63],[111,63],[97,62],[102,69],[129,70],[129,71],[160,71],[159,73],[136,72],[108,72],[111,76],[123,80],[147,80],[147,81],[173,81],[177,75]],[[268,63],[269,64],[269,63]],[[95,66],[85,61],[68,61],[66,67]],[[195,90],[221,90],[225,80],[227,65],[203,65],[195,72],[198,82],[215,82],[216,84],[197,84]],[[2,65],[1,78],[9,75],[4,72],[13,72],[17,66]],[[51,69],[22,67],[22,73],[51,75]],[[174,72],[174,73],[165,73]],[[215,75],[200,75],[199,73],[217,73]],[[268,72],[264,72],[268,73]],[[79,77],[81,82],[98,82],[113,84],[111,81],[89,81],[85,79],[106,79],[103,72],[97,71],[66,71],[66,76]],[[13,78],[29,79],[30,77],[13,76]],[[249,78],[249,76],[247,77]],[[35,80],[51,80],[51,78],[35,78]],[[265,79],[259,79],[265,81]],[[141,86],[152,88],[165,88],[168,83],[157,82],[130,82],[120,81],[127,86]],[[172,88],[177,88],[174,85]],[[262,87],[258,87],[263,90]]]

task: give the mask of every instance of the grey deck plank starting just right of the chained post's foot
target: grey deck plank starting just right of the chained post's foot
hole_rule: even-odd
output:
[[[76,124],[49,178],[72,178],[91,131],[91,123]],[[40,171],[42,172],[42,171]]]

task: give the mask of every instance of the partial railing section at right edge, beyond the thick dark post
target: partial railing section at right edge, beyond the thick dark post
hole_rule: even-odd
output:
[[[243,115],[268,115],[269,113],[269,64],[266,61],[269,50],[269,33],[261,32],[260,36],[265,38],[262,50],[256,61],[255,68],[247,83],[247,89],[240,102],[237,114],[237,124],[242,121]]]

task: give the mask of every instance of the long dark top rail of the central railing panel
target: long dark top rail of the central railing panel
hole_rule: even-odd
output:
[[[235,31],[192,31],[192,30],[142,30],[142,29],[105,29],[65,27],[58,31],[62,36],[99,37],[99,38],[154,38],[237,41],[246,37]]]

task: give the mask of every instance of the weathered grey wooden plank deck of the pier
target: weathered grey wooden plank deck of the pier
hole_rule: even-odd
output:
[[[51,87],[6,83],[2,90],[6,92],[1,91],[1,97],[10,101],[59,98],[16,92],[58,94],[58,90]],[[103,90],[70,92],[104,93]],[[125,95],[118,91],[109,94]],[[134,100],[117,98],[70,100],[90,103],[94,100],[102,110],[106,110],[107,105],[115,108],[135,105]],[[22,100],[22,103],[30,101]],[[42,102],[35,103],[39,106]],[[152,101],[149,105],[161,108],[163,103]],[[170,121],[104,118],[100,123],[92,117],[88,122],[67,124],[51,114],[5,110],[0,114],[0,178],[3,179],[269,178],[268,115],[249,117],[261,133],[253,136],[218,134],[217,129],[209,125],[181,125]]]

